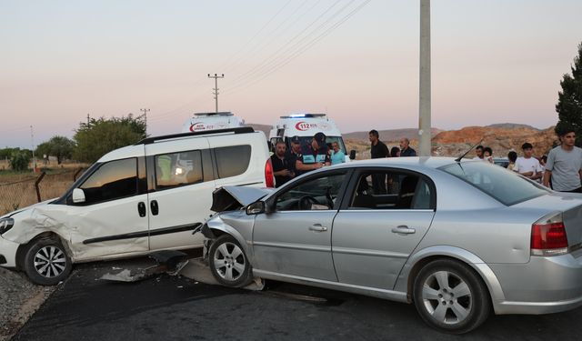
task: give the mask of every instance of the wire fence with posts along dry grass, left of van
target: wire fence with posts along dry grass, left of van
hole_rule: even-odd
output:
[[[13,176],[5,183],[0,182],[0,215],[62,196],[82,170],[52,174],[43,172],[39,176]]]

